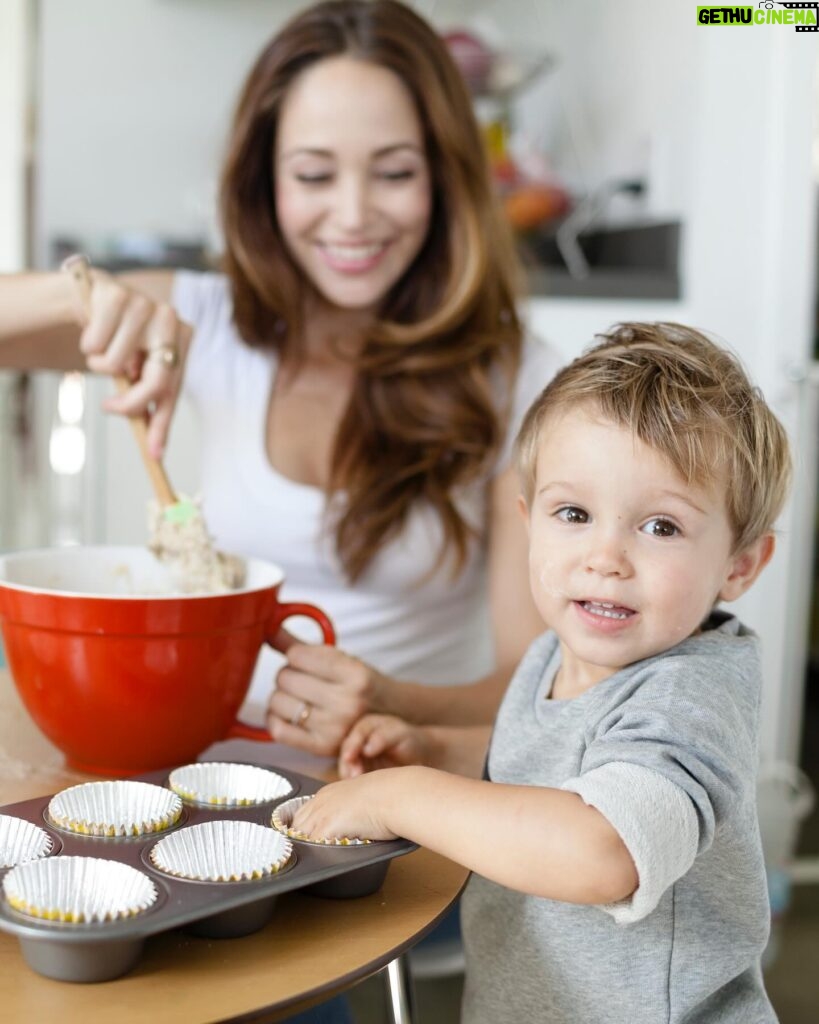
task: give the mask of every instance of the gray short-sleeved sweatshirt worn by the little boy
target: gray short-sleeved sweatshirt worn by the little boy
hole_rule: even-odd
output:
[[[465,1024],[770,1024],[756,805],[758,642],[715,612],[701,633],[570,700],[549,699],[554,633],[512,680],[492,781],[573,791],[617,829],[640,884],[586,906],[473,876],[462,904]],[[490,841],[487,831],[487,841]]]

